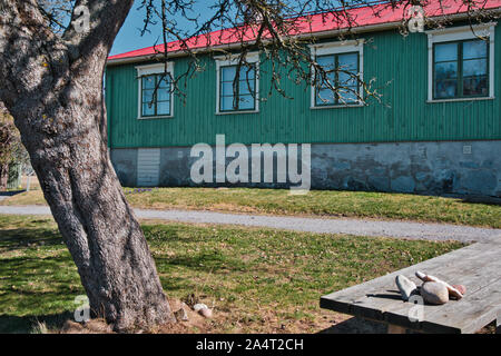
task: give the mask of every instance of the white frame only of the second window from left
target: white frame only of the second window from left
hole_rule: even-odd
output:
[[[238,113],[256,113],[259,112],[259,53],[249,52],[246,55],[245,60],[247,63],[254,63],[256,66],[256,95],[254,102],[254,110],[232,110],[220,111],[220,68],[227,66],[237,66],[239,55],[218,56],[214,57],[216,60],[216,115],[238,115]]]

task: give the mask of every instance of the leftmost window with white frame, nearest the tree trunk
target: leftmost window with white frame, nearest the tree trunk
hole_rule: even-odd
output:
[[[139,119],[173,117],[173,63],[136,67],[139,78]]]

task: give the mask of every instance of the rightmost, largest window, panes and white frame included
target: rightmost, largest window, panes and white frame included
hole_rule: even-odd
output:
[[[493,26],[428,33],[429,101],[493,97]]]

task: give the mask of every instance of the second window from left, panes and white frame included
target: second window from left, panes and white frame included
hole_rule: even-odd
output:
[[[216,113],[258,111],[258,55],[247,55],[246,61],[249,66],[242,65],[238,69],[237,56],[216,58]]]

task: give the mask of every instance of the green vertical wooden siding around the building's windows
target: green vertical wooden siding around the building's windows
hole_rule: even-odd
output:
[[[428,103],[428,38],[396,31],[366,33],[364,79],[376,78],[383,103],[366,107],[311,109],[305,85],[284,79],[286,99],[274,92],[259,102],[258,113],[216,115],[216,65],[203,58],[206,70],[188,81],[187,103],[174,100],[174,118],[137,119],[136,65],[107,69],[109,142],[114,148],[191,146],[227,142],[389,142],[501,139],[501,31],[495,27],[494,100]],[[187,59],[175,59],[175,73]],[[269,89],[269,66],[261,65],[259,91]]]

